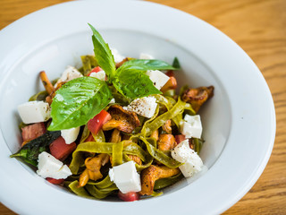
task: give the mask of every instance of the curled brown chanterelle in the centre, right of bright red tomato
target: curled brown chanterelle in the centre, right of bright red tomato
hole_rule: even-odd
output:
[[[104,131],[116,128],[124,133],[131,133],[140,125],[139,118],[134,112],[124,110],[119,105],[109,107],[108,113],[112,116],[112,119],[103,125],[102,129]]]

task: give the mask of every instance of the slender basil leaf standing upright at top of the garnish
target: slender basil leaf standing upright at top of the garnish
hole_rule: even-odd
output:
[[[98,31],[92,25],[88,25],[93,32],[92,41],[97,63],[108,76],[113,76],[116,70],[114,56]]]

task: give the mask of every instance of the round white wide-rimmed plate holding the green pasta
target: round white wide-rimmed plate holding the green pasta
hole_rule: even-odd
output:
[[[17,105],[40,90],[38,72],[50,79],[67,64],[92,53],[87,22],[125,56],[145,52],[184,72],[179,82],[214,85],[201,111],[209,168],[198,180],[182,181],[163,196],[139,202],[92,201],[47,183],[9,155],[19,149]],[[82,1],[31,13],[0,32],[0,197],[21,214],[217,214],[248,192],[270,157],[273,99],[262,74],[231,39],[187,13],[147,2]]]

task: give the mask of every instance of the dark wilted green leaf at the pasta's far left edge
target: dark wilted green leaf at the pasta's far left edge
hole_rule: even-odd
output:
[[[49,144],[55,141],[58,137],[61,136],[61,132],[46,132],[38,138],[28,142],[20,150],[11,155],[11,158],[19,157],[23,161],[37,167],[38,164],[38,155],[46,151]]]

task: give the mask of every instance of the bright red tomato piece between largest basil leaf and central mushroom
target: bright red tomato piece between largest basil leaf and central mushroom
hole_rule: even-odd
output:
[[[88,130],[93,134],[97,134],[102,128],[102,125],[104,125],[110,119],[111,115],[105,110],[102,110],[99,114],[97,114],[97,116],[94,116],[88,121]]]

